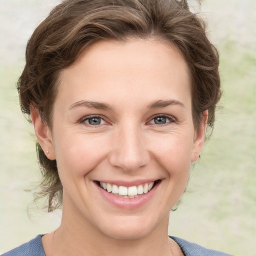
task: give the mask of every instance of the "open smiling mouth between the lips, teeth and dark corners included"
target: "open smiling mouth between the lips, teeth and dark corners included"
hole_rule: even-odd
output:
[[[157,179],[155,181],[143,183],[137,186],[126,187],[117,186],[115,184],[105,183],[101,181],[95,181],[95,183],[105,191],[123,198],[136,198],[143,194],[146,194],[159,182],[160,179]]]

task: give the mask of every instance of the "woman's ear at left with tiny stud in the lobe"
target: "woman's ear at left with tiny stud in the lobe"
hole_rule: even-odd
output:
[[[52,143],[50,128],[41,120],[39,111],[35,107],[30,107],[30,117],[34,126],[34,133],[46,157],[55,159],[54,147]]]

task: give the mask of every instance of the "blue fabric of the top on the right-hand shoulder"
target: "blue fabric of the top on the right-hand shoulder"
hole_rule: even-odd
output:
[[[231,256],[230,254],[226,254],[221,251],[206,249],[196,243],[189,242],[175,236],[169,237],[179,245],[185,256]]]

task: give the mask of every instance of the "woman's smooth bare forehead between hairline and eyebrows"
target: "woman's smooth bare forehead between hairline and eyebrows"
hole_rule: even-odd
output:
[[[175,46],[156,40],[93,43],[60,73],[59,96],[70,103],[181,95],[190,99],[187,65]]]

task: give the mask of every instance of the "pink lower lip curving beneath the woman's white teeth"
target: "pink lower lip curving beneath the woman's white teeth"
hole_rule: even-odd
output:
[[[142,205],[146,204],[150,199],[153,197],[158,185],[160,182],[157,182],[153,188],[148,191],[146,194],[139,195],[138,197],[134,198],[123,198],[117,195],[114,195],[111,192],[107,192],[103,188],[99,187],[95,182],[95,186],[97,187],[100,194],[104,197],[106,201],[111,203],[112,205],[123,208],[123,209],[136,209],[141,207]]]

